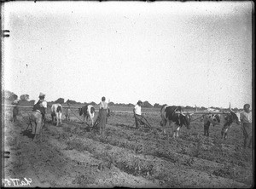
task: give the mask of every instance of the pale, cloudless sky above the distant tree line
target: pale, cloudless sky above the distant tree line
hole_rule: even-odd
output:
[[[38,100],[252,105],[252,2],[8,2],[3,89]]]

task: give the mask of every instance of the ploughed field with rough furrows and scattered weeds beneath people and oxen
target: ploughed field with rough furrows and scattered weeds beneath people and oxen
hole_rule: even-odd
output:
[[[234,123],[228,139],[222,140],[220,126],[211,126],[207,137],[197,119],[191,129],[183,126],[179,139],[174,140],[171,128],[166,130],[170,136],[162,133],[159,109],[143,108],[152,128],[141,129],[135,129],[132,107],[111,110],[103,136],[81,123],[78,110],[72,109],[77,117],[72,113],[71,121],[63,120],[58,127],[50,122],[48,110],[40,143],[32,141],[26,131],[30,110],[20,108],[18,121],[13,123],[12,108],[7,108],[3,111],[2,149],[10,152],[10,158],[3,160],[3,179],[26,178],[32,180],[30,186],[52,187],[253,185],[253,152],[242,149],[241,126]]]

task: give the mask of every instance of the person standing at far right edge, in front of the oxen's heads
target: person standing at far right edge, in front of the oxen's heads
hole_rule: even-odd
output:
[[[240,119],[241,119],[241,129],[243,132],[243,137],[244,137],[244,143],[243,147],[252,147],[252,135],[253,135],[253,130],[252,130],[252,112],[250,111],[250,105],[245,104],[243,106],[243,112],[240,114]],[[249,141],[249,143],[247,143]],[[248,146],[247,146],[248,144]]]

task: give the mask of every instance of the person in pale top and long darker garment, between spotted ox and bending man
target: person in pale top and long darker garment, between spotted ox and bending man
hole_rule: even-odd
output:
[[[107,114],[108,114],[108,103],[105,101],[106,98],[103,96],[100,103],[99,109],[99,128],[100,134],[105,134],[106,123],[107,123]]]

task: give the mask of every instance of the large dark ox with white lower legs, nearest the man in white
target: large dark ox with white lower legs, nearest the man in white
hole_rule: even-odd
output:
[[[180,113],[177,113],[180,112]],[[166,135],[166,123],[169,122],[171,126],[172,122],[175,125],[172,126],[172,136],[173,138],[178,137],[178,130],[183,126],[183,124],[190,129],[190,119],[194,113],[183,113],[181,106],[167,106],[163,105],[160,109],[161,122],[160,125],[164,127],[164,134]]]

